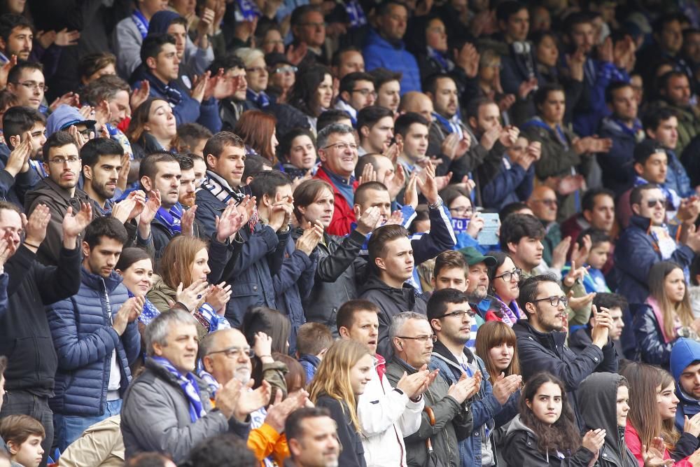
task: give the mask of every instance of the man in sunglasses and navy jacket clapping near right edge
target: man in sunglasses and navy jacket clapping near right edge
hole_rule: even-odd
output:
[[[654,264],[671,260],[689,271],[700,252],[700,230],[693,221],[666,223],[666,202],[664,192],[654,183],[636,186],[629,195],[633,216],[615,244],[615,274],[616,292],[631,307],[643,303],[649,295],[647,276]],[[629,312],[625,311],[623,319],[625,326],[631,326]],[[625,354],[636,347],[631,333],[622,335],[622,347]]]

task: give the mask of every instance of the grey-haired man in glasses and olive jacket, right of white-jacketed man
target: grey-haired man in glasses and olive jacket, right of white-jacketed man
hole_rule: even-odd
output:
[[[386,365],[386,377],[392,386],[406,375],[414,375],[430,365],[433,345],[437,337],[424,314],[403,312],[393,316],[389,329],[394,358]],[[406,457],[411,465],[426,465],[426,437],[430,435],[433,452],[444,466],[468,465],[461,463],[458,439],[473,429],[469,398],[479,390],[479,375],[465,372],[450,384],[444,377],[436,377],[423,393],[426,417],[421,418],[418,433],[404,438]],[[433,422],[434,419],[434,422]],[[441,427],[439,430],[431,425]],[[396,465],[395,463],[392,465]]]

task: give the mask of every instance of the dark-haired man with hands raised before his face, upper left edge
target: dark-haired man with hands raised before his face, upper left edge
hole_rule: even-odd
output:
[[[8,152],[4,157],[0,155],[4,162],[4,170],[0,172],[0,195],[20,208],[25,204],[27,191],[44,176],[38,158],[46,142],[45,128],[46,118],[31,107],[10,107],[3,116]],[[23,144],[27,147],[22,148]]]

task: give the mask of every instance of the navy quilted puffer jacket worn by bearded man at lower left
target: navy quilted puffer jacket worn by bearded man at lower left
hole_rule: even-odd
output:
[[[129,365],[139,356],[141,335],[137,321],[127,324],[121,336],[112,328],[108,310],[118,313],[129,298],[119,274],[102,278],[84,267],[81,274],[78,293],[48,308],[58,356],[55,396],[49,405],[59,414],[87,417],[103,414],[114,350],[121,372],[120,393],[129,385]]]

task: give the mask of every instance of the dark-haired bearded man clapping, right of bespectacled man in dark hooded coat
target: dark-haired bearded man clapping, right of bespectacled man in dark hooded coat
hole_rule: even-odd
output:
[[[97,216],[111,216],[124,224],[129,237],[126,247],[141,246],[153,250],[151,221],[160,207],[158,200],[153,198],[147,204],[145,193],[135,190],[121,202],[113,202],[117,180],[123,168],[123,155],[122,146],[113,139],[95,138],[87,141],[80,149],[83,190],[94,201],[93,209]],[[134,219],[139,214],[137,223]]]

